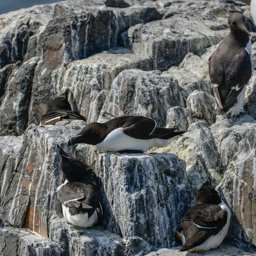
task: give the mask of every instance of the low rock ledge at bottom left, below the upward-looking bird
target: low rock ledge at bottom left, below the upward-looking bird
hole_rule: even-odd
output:
[[[56,219],[56,216],[53,216],[53,218]],[[58,236],[57,234],[53,236],[52,241],[51,239],[37,236],[26,229],[0,228],[0,253],[4,256],[65,256],[69,252],[70,255],[74,256],[100,256],[103,253],[104,255],[113,256],[125,255],[122,239],[108,231],[76,229],[61,221],[59,226],[56,226],[56,221],[52,222],[52,224],[52,229],[55,229],[55,233],[58,232],[58,229],[65,230],[65,233],[61,233],[62,238],[59,238],[61,239],[59,241],[54,241]]]

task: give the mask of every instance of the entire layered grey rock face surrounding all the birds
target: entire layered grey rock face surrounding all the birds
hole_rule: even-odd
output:
[[[209,255],[256,253],[256,74],[233,118],[216,117],[208,75],[230,12],[247,15],[254,41],[239,1],[74,0],[0,16],[1,255],[185,255],[170,249],[173,231],[208,175],[232,210],[226,245]],[[84,121],[39,125],[65,88],[88,123],[143,115],[188,132],[145,154],[68,147]],[[99,177],[101,226],[64,221],[56,143]]]

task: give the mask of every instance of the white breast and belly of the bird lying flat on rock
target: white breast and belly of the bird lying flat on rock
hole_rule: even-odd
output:
[[[168,140],[150,139],[140,140],[129,137],[123,133],[123,128],[117,128],[97,146],[107,151],[117,152],[122,150],[143,150],[144,152],[153,147],[165,147],[169,144]]]

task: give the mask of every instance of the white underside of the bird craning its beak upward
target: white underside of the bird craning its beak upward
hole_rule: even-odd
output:
[[[97,208],[99,211],[99,208]],[[71,215],[69,212],[69,208],[62,204],[62,212],[64,219],[67,221],[67,223],[73,224],[77,227],[92,227],[93,224],[95,224],[98,221],[98,215],[96,210],[93,212],[93,214],[88,218],[88,213],[81,213],[76,215]]]

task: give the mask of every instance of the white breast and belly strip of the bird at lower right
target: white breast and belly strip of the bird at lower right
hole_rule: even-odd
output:
[[[225,204],[222,200],[219,206],[221,207],[221,209],[225,209],[227,211],[227,223],[217,235],[210,236],[204,241],[204,243],[188,250],[189,252],[204,252],[215,249],[222,243],[223,239],[227,236],[227,231],[230,225],[231,212],[230,209],[227,207],[227,204]]]

